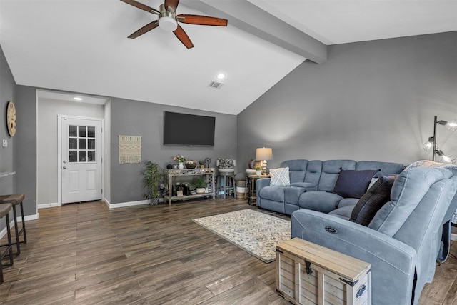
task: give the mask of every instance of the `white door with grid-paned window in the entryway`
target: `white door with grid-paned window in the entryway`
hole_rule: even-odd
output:
[[[101,121],[61,120],[62,204],[101,199]]]

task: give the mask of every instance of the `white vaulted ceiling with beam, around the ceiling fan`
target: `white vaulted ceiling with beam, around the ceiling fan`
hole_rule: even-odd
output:
[[[119,0],[0,0],[0,45],[19,85],[238,114],[328,45],[457,31],[455,0],[181,0],[178,14],[229,26],[181,24],[186,49],[161,29],[128,39],[156,15]]]

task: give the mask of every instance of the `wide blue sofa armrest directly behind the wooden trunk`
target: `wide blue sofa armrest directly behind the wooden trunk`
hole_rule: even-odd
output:
[[[351,221],[301,209],[291,215],[298,237],[371,263],[373,304],[411,304],[417,254],[411,246]]]

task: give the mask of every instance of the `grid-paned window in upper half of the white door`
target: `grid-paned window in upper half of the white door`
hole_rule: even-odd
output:
[[[95,162],[95,126],[69,125],[69,162]]]

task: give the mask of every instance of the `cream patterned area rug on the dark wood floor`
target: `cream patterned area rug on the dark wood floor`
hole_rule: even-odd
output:
[[[258,259],[276,260],[276,244],[291,239],[291,222],[251,209],[194,219]]]

